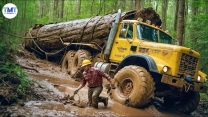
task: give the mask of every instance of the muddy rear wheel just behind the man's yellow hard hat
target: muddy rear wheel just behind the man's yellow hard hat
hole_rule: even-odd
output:
[[[83,72],[81,69],[81,65],[84,59],[91,60],[91,53],[87,50],[82,50],[82,49],[78,50],[76,54],[74,55],[74,58],[71,64],[70,75],[72,78],[81,78],[81,74]]]

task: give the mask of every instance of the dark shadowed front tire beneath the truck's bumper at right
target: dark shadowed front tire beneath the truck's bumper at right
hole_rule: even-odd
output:
[[[200,95],[198,92],[188,91],[184,94],[183,99],[180,102],[171,103],[172,105],[169,104],[168,107],[181,113],[189,114],[196,110],[197,106],[199,105],[199,101]],[[166,100],[164,102],[168,101]]]

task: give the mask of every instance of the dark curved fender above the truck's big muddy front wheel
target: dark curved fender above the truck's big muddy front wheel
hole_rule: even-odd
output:
[[[115,73],[128,65],[137,65],[144,67],[147,71],[158,73],[157,66],[153,58],[144,54],[131,54],[126,56],[117,67]]]

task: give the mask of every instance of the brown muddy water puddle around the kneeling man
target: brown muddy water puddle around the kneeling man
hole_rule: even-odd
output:
[[[31,77],[43,80],[51,83],[54,88],[56,88],[59,92],[61,92],[64,96],[72,95],[75,88],[80,84],[80,82],[75,81],[71,78],[58,78],[53,76],[41,75],[41,74],[30,74]],[[102,92],[102,96],[108,96],[107,90],[104,88]],[[87,87],[85,86],[81,89],[78,95],[74,97],[77,101],[84,101],[87,103]],[[51,104],[51,103],[50,103]],[[43,104],[42,104],[43,105]],[[91,107],[79,108],[76,106],[72,106],[70,104],[61,104],[59,105],[62,108],[62,111],[67,111],[67,113],[72,114],[70,111],[74,111],[73,113],[76,115],[79,113],[79,116],[82,115],[93,115],[93,116],[189,116],[179,113],[171,113],[168,111],[158,111],[154,105],[150,105],[144,109],[136,109],[132,107],[128,107],[117,102],[114,102],[112,99],[109,99],[109,105],[104,107],[102,103],[99,104],[99,109],[94,109]],[[66,109],[67,108],[67,109]],[[54,110],[58,110],[57,107]],[[106,114],[107,113],[107,114]]]

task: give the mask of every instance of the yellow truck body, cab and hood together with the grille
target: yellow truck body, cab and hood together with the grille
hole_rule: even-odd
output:
[[[198,72],[200,54],[173,43],[173,38],[167,32],[154,25],[138,20],[123,20],[118,27],[109,59],[121,63],[128,55],[142,54],[153,59],[155,71],[159,74],[204,82],[206,75]],[[139,64],[137,60],[134,62]],[[178,85],[177,80],[174,85]]]

